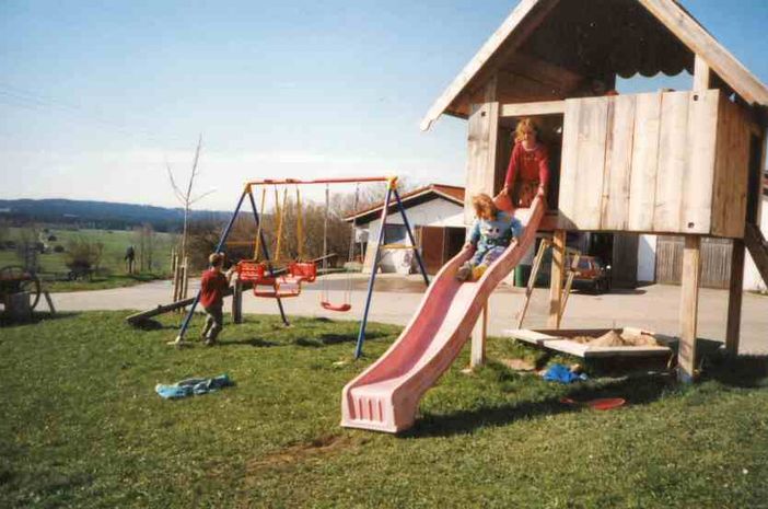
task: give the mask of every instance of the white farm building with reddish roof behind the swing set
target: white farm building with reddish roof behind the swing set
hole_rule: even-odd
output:
[[[464,244],[464,188],[442,184],[430,184],[404,194],[403,206],[408,221],[420,244],[421,256],[428,274],[435,274]],[[363,271],[373,266],[374,245],[368,239],[376,239],[381,229],[384,203],[375,204],[345,218],[354,222],[356,238],[365,244]],[[389,207],[380,266],[384,273],[410,274],[416,270],[412,251],[405,248],[407,239],[403,216],[395,205]]]

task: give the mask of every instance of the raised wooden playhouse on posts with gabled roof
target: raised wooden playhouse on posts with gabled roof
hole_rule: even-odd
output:
[[[617,76],[683,71],[690,90],[606,94]],[[684,235],[678,373],[689,381],[701,239],[733,240],[725,338],[733,354],[745,245],[768,277],[756,227],[767,105],[766,85],[674,0],[522,0],[421,128],[442,114],[467,119],[469,199],[501,189],[516,119],[543,126],[552,173],[542,227],[554,242],[549,328],[560,327],[567,232]],[[487,312],[473,337],[474,363],[484,360]]]

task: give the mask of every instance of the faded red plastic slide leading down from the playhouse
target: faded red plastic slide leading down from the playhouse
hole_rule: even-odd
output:
[[[421,396],[449,369],[469,338],[493,289],[517,265],[536,239],[544,201],[515,210],[525,230],[477,281],[461,282],[464,250],[440,269],[400,337],[341,395],[341,426],[398,432],[410,428]]]

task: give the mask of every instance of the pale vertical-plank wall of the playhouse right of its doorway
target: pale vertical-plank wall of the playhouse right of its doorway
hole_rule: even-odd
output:
[[[746,177],[748,157],[746,123],[720,91],[573,99],[565,111],[561,228],[738,235],[744,215],[728,206],[712,228],[714,190],[741,199],[729,175]]]

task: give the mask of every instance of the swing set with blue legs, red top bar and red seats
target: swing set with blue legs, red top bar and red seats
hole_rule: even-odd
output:
[[[408,217],[406,216],[405,207],[400,199],[400,195],[397,190],[397,177],[396,176],[382,176],[382,177],[358,177],[358,178],[317,178],[310,181],[301,181],[295,178],[283,178],[283,180],[260,180],[253,181],[245,184],[243,193],[237,200],[237,206],[235,207],[229,223],[224,228],[223,233],[219,240],[219,244],[216,247],[217,253],[225,253],[224,246],[226,245],[226,239],[232,231],[235,219],[237,218],[243,203],[247,198],[251,203],[251,209],[253,212],[253,218],[256,223],[256,234],[254,244],[254,255],[252,259],[242,259],[235,265],[235,270],[240,281],[251,284],[255,297],[259,298],[271,298],[278,304],[278,310],[280,311],[280,316],[286,326],[290,325],[286,312],[282,306],[282,299],[293,298],[301,294],[302,284],[314,282],[317,279],[317,261],[309,261],[304,257],[304,219],[301,206],[301,192],[300,186],[305,185],[325,185],[325,217],[323,221],[323,256],[318,258],[322,263],[323,274],[328,273],[328,258],[333,255],[328,254],[328,217],[330,209],[330,185],[335,184],[356,184],[354,188],[354,210],[358,208],[360,184],[361,183],[375,183],[381,182],[386,184],[386,196],[384,198],[384,207],[382,209],[381,216],[381,228],[379,230],[379,238],[376,241],[373,266],[371,267],[371,277],[368,281],[368,293],[365,297],[365,308],[363,310],[362,321],[360,322],[360,332],[358,334],[358,340],[354,348],[354,358],[359,358],[362,355],[362,345],[365,338],[365,326],[368,324],[368,316],[371,310],[371,298],[373,294],[373,287],[376,279],[376,273],[379,270],[379,264],[381,262],[381,252],[383,250],[389,248],[410,248],[414,251],[416,261],[419,265],[419,270],[424,280],[424,285],[429,286],[429,277],[427,276],[427,270],[424,269],[423,262],[421,259],[421,254],[417,248],[416,239],[408,222]],[[296,201],[296,241],[298,241],[298,255],[293,259],[289,259],[287,263],[283,262],[283,231],[286,222],[286,211],[288,208],[288,189],[293,186],[295,188],[295,201]],[[256,199],[254,197],[254,189],[261,188],[261,206],[260,208],[256,206]],[[267,201],[267,189],[269,187],[274,188],[275,194],[275,215],[277,217],[276,227],[276,238],[274,247],[274,257],[270,257],[269,247],[265,239],[265,232],[263,230],[264,211]],[[280,203],[280,187],[282,187],[282,204]],[[410,240],[410,245],[404,244],[384,244],[384,230],[387,224],[387,218],[389,216],[389,208],[393,205],[393,197],[396,201],[397,211],[403,218],[403,223],[406,228],[408,239]],[[349,261],[352,259],[354,255],[354,233],[356,233],[356,220],[352,220],[351,233],[349,240]],[[280,269],[280,264],[282,267]],[[352,309],[351,294],[352,294],[352,277],[351,274],[347,275],[345,281],[345,289],[342,292],[342,300],[339,302],[331,302],[329,298],[329,287],[328,278],[324,277],[321,279],[321,306],[328,311],[335,312],[347,312]],[[189,323],[195,313],[195,309],[200,300],[200,292],[198,291],[195,300],[189,308],[189,311],[182,324],[173,344],[175,346],[182,346],[185,344],[184,335],[189,327]]]

